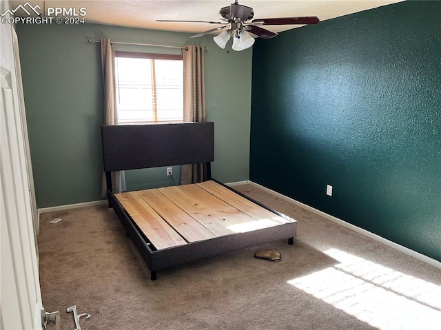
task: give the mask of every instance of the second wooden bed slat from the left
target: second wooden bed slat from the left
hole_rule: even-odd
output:
[[[153,207],[187,242],[198,242],[216,237],[157,189],[143,190],[141,195],[143,195],[143,200]]]

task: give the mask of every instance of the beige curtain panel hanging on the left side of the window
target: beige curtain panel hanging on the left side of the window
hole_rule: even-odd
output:
[[[101,68],[104,85],[104,124],[118,125],[118,112],[116,112],[116,88],[115,88],[115,50],[109,38],[101,39]],[[101,194],[107,195],[105,174],[103,173]],[[125,191],[124,172],[112,173],[113,192]]]

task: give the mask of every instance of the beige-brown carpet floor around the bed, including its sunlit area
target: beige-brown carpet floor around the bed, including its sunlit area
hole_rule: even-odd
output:
[[[46,311],[76,305],[81,329],[441,329],[441,271],[260,189],[236,189],[298,220],[277,241],[150,271],[106,206],[41,215]],[[50,223],[61,218],[59,223]],[[276,248],[280,262],[254,258]],[[48,329],[55,329],[50,324]]]

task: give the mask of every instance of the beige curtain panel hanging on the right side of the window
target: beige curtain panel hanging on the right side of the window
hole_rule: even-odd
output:
[[[187,50],[183,50],[185,122],[206,120],[204,54],[203,46],[189,45]],[[189,164],[181,167],[181,185],[204,180],[207,180],[205,164]]]

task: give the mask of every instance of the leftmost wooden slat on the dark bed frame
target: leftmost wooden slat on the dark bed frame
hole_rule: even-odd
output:
[[[120,200],[120,203],[156,249],[187,244],[143,198]]]

